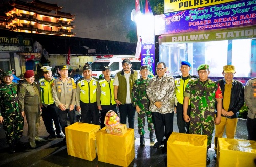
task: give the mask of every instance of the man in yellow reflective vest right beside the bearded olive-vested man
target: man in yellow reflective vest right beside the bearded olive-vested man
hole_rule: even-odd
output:
[[[114,101],[114,78],[110,77],[111,68],[105,66],[102,68],[104,77],[99,79],[97,85],[97,105],[98,110],[101,110],[101,128],[105,126],[104,120],[106,113],[109,110],[116,110],[116,102]]]

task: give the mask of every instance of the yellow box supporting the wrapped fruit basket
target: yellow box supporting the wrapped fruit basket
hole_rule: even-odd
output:
[[[135,158],[134,129],[123,136],[106,133],[106,128],[96,132],[98,161],[118,166],[129,166]]]

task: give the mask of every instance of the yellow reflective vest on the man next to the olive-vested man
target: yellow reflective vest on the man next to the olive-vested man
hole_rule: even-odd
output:
[[[114,101],[114,78],[111,78],[110,83],[105,79],[99,80],[99,85],[101,87],[100,101],[101,105],[116,104]]]

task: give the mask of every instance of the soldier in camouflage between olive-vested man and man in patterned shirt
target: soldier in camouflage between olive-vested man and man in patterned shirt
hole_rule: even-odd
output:
[[[145,146],[145,117],[147,116],[148,130],[150,131],[150,142],[154,142],[154,125],[152,122],[150,107],[150,100],[148,100],[146,95],[146,86],[150,82],[148,78],[148,66],[144,65],[140,67],[141,78],[137,79],[133,85],[132,90],[132,100],[133,106],[136,107],[138,112],[138,129],[140,134],[140,147]]]

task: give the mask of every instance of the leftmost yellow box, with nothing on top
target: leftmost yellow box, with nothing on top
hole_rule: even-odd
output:
[[[99,125],[76,122],[65,128],[68,155],[93,161],[96,158],[96,135]]]

